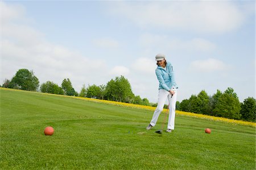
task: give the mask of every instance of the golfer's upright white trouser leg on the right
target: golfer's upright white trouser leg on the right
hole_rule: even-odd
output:
[[[172,97],[171,97],[171,94],[168,95],[168,101],[169,101],[169,119],[168,119],[167,128],[174,130],[177,91]]]

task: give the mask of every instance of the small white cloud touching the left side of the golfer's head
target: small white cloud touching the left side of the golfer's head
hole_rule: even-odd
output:
[[[156,68],[156,62],[154,59],[148,59],[146,57],[142,57],[135,60],[132,67],[135,71],[138,71],[138,72],[154,74],[155,68]]]

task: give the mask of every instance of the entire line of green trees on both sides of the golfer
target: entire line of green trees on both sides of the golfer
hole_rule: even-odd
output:
[[[106,85],[97,86],[93,84],[88,85],[87,88],[83,85],[80,93],[77,93],[69,78],[65,78],[62,81],[61,86],[52,81],[47,81],[41,84],[39,88],[39,80],[34,75],[33,71],[19,69],[11,81],[6,79],[2,86],[3,88],[30,91],[40,89],[40,92],[42,93],[106,99],[109,101],[134,103],[137,105],[154,107],[157,106],[157,103],[150,103],[147,98],[142,99],[140,96],[135,96],[131,90],[130,82],[124,76],[115,77]],[[256,100],[253,97],[248,97],[241,103],[232,88],[226,89],[224,93],[217,90],[213,96],[208,96],[207,92],[202,90],[197,96],[192,94],[189,99],[176,102],[176,110],[230,119],[241,119],[251,122],[255,122],[255,106]],[[165,107],[167,107],[167,105]]]

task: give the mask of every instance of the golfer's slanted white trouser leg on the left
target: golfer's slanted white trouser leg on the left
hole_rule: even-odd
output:
[[[164,103],[166,102],[166,98],[170,94],[170,92],[160,89],[158,92],[158,106],[156,107],[150,125],[155,126],[156,122],[158,121],[159,114],[163,110]]]

